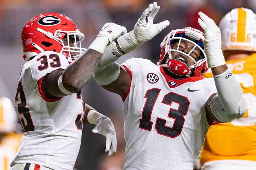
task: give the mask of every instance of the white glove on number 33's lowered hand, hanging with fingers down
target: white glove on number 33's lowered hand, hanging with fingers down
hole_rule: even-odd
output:
[[[106,149],[105,152],[108,152],[108,156],[112,155],[113,152],[116,152],[116,131],[113,122],[107,117],[96,110],[90,110],[87,115],[88,122],[95,124],[95,128],[92,129],[93,133],[98,133],[106,137]]]

